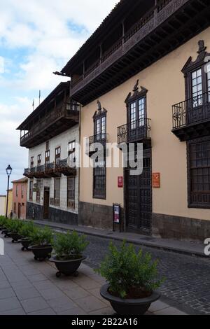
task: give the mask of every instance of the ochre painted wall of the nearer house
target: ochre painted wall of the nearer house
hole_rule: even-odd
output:
[[[125,99],[132,92],[137,79],[148,89],[147,115],[151,118],[153,172],[161,174],[161,188],[153,189],[153,213],[210,220],[210,210],[188,209],[186,142],[172,134],[172,105],[183,102],[185,81],[181,69],[188,57],[197,57],[198,41],[204,40],[210,52],[210,28],[180,48],[141,71],[116,89],[100,97],[107,113],[109,141],[117,141],[117,127],[127,123]],[[93,134],[94,112],[97,101],[84,106],[81,114],[81,143]],[[80,169],[80,201],[111,206],[123,205],[123,189],[118,188],[118,176],[123,169],[107,169],[106,200],[92,199],[92,169]]]

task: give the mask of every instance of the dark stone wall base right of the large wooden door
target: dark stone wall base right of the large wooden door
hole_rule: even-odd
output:
[[[153,236],[203,242],[210,237],[210,221],[153,214]]]

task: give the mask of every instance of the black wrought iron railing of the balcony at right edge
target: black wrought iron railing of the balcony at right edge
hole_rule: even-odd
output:
[[[173,130],[210,120],[210,91],[172,106]]]

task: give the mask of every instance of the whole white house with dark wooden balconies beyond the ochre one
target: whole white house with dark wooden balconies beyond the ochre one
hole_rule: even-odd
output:
[[[20,145],[29,148],[27,218],[78,223],[80,106],[69,90],[69,82],[60,83],[18,127]]]

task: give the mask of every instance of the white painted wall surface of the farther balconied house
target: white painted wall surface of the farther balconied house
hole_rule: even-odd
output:
[[[53,137],[49,140],[49,149],[50,149],[50,163],[55,162],[55,148],[61,147],[61,160],[68,158],[68,146],[69,142],[76,141],[79,144],[79,130],[78,125],[72,127],[66,132],[59,134],[56,137]],[[42,143],[34,148],[29,149],[29,167],[31,162],[31,157],[34,157],[34,167],[37,166],[37,157],[41,154],[41,165],[45,165],[45,151],[46,144]],[[30,181],[30,180],[29,180]],[[34,184],[36,179],[34,179]],[[50,198],[54,198],[54,179],[41,179],[41,200],[39,205],[43,205],[43,193],[44,188],[50,188]],[[29,182],[27,190],[27,201],[29,201]],[[33,203],[36,204],[36,192],[33,193]],[[55,209],[60,209],[63,211],[68,211],[73,214],[78,214],[78,171],[75,182],[75,209],[67,209],[67,177],[62,175],[61,185],[60,185],[60,207],[51,206]]]

